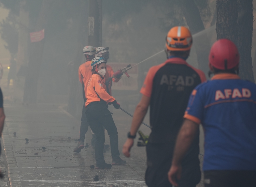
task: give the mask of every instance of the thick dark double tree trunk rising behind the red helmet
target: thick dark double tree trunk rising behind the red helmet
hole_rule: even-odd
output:
[[[217,40],[227,38],[233,41],[240,54],[240,77],[254,82],[252,70],[252,0],[217,0]],[[238,17],[239,12],[239,17]]]

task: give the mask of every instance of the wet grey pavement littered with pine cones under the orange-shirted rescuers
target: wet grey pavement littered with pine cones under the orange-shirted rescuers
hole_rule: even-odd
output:
[[[94,150],[89,146],[81,153],[73,152],[77,145],[74,139],[79,138],[80,121],[65,112],[63,106],[7,103],[4,110],[6,121],[1,143],[8,186],[146,186],[145,167],[133,159],[124,158],[122,154],[121,157],[127,161],[125,166],[90,169],[90,165],[95,165]],[[117,128],[120,127],[117,125]],[[118,131],[119,139],[126,137],[124,131],[127,132],[126,129]],[[28,142],[25,138],[29,139]],[[85,143],[90,145],[90,139],[91,133],[88,131]],[[120,152],[122,146],[121,141]],[[144,149],[141,151],[144,152]],[[111,152],[107,151],[104,156],[105,161],[111,163]],[[98,182],[94,181],[95,175],[99,175]]]

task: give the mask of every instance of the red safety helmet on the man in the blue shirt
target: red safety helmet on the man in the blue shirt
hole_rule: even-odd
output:
[[[209,54],[209,64],[221,70],[232,69],[239,64],[237,46],[228,39],[215,42]]]

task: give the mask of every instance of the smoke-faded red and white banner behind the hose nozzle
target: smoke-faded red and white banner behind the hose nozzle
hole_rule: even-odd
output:
[[[128,64],[121,64],[121,63],[108,63],[116,72],[118,69],[123,69]],[[131,64],[133,66],[135,64]],[[129,69],[127,73],[130,75],[128,78],[125,74],[122,75],[122,79],[118,82],[112,83],[112,90],[138,90],[138,66],[134,66],[133,68]]]

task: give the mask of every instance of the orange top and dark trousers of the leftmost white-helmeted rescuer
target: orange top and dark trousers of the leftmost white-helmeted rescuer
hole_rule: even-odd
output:
[[[86,119],[86,107],[85,107],[85,102],[86,102],[86,91],[87,91],[87,84],[89,82],[89,79],[91,78],[91,61],[87,61],[79,66],[78,69],[78,76],[79,76],[79,81],[83,85],[83,98],[84,98],[84,105],[82,109],[82,118],[81,118],[81,126],[80,126],[80,137],[79,141],[84,141],[85,139],[85,134],[88,130],[89,124]],[[86,85],[86,86],[85,86]]]

